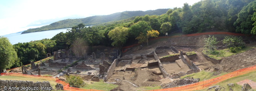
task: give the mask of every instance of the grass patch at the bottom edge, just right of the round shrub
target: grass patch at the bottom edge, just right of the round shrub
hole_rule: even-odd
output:
[[[108,84],[104,83],[103,80],[100,80],[99,82],[93,82],[93,83],[86,83],[86,85],[82,88],[84,89],[97,89],[97,90],[105,90],[109,91],[113,88],[116,88],[118,85]]]

